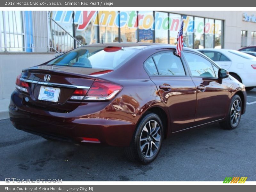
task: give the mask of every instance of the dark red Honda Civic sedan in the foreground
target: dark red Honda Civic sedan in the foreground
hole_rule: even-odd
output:
[[[243,84],[202,53],[168,44],[79,47],[22,70],[10,120],[48,140],[125,147],[150,163],[173,132],[220,122],[234,129],[245,112]]]

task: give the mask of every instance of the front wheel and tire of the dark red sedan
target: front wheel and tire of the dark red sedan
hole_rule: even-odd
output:
[[[239,95],[232,98],[228,110],[228,116],[223,122],[220,122],[220,126],[223,129],[236,129],[242,116],[242,101]]]

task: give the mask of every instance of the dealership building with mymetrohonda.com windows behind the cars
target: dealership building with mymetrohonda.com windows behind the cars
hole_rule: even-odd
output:
[[[256,45],[256,12],[248,11],[0,11],[0,100],[9,99],[21,69],[79,46],[105,42],[184,46]]]

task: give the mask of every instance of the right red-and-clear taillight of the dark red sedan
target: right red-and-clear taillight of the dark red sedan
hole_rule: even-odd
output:
[[[111,100],[122,89],[121,85],[95,80],[84,100]]]

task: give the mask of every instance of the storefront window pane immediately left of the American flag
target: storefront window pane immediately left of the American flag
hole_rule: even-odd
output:
[[[178,14],[169,14],[169,28],[170,28],[170,44],[176,45],[177,44],[177,36],[178,31],[180,29],[180,20],[181,15]]]

